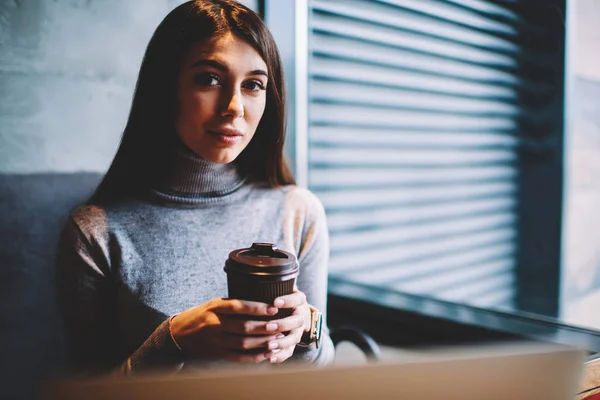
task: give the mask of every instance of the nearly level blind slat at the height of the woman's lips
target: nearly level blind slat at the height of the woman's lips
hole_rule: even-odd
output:
[[[313,145],[398,146],[428,148],[512,148],[520,143],[513,134],[494,132],[427,132],[399,129],[357,129],[353,127],[315,126],[310,130]]]

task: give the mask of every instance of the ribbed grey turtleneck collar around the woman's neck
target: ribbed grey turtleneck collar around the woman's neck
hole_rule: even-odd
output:
[[[238,191],[245,182],[234,163],[207,161],[180,140],[171,146],[153,192],[167,201],[187,204],[218,200]]]

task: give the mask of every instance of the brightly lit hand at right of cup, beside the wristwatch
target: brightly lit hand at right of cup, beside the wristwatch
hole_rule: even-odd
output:
[[[282,339],[271,340],[268,343],[269,354],[267,358],[272,364],[282,363],[294,354],[294,349],[300,340],[302,334],[310,329],[310,308],[306,302],[306,295],[301,291],[295,289],[294,293],[281,296],[275,299],[273,302],[277,308],[292,308],[292,315],[287,318],[271,321],[276,323],[278,332],[287,332]],[[286,327],[292,327],[287,329]]]

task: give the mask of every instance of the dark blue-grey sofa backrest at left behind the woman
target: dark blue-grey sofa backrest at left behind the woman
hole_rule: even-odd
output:
[[[6,398],[29,397],[60,372],[65,345],[54,302],[60,230],[100,174],[0,174],[0,376]],[[1,396],[0,396],[1,397]]]

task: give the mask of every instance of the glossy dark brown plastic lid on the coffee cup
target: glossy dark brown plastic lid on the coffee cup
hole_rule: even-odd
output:
[[[229,253],[223,269],[228,274],[289,279],[298,275],[298,260],[294,254],[280,250],[272,243],[252,243],[252,247]]]

